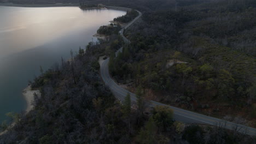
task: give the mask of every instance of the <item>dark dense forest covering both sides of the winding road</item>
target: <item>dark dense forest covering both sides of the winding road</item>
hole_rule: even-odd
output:
[[[9,113],[0,143],[256,143],[253,136],[173,120],[168,107],[256,127],[256,2],[253,0],[92,1],[140,10],[125,29],[101,26],[108,40],[89,43],[31,83],[34,110]],[[133,11],[134,12],[134,11]],[[137,13],[117,17],[129,22]],[[114,52],[124,46],[122,53]],[[110,57],[113,78],[136,93],[114,98],[100,77],[98,58]]]

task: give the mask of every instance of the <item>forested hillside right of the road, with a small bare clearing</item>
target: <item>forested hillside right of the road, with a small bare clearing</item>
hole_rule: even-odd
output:
[[[254,15],[254,1],[145,11],[110,72],[148,99],[255,127]]]

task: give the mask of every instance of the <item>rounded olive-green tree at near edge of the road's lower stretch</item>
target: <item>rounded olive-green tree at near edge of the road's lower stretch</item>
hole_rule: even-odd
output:
[[[166,130],[172,124],[173,110],[168,106],[155,106],[153,110],[153,119],[158,128]]]

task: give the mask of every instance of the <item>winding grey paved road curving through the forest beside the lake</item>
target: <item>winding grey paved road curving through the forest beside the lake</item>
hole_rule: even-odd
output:
[[[132,20],[129,24],[127,24],[124,28],[122,28],[119,31],[119,34],[123,37],[125,43],[129,44],[130,40],[128,40],[127,38],[124,37],[124,35],[123,35],[124,29],[131,26],[136,20],[139,19],[139,17],[141,17],[141,15],[142,15],[141,12],[138,11],[138,13],[139,13],[139,15],[134,20]],[[116,52],[116,54],[118,52],[121,52],[122,50],[123,50],[123,47],[121,47]],[[115,95],[115,97],[118,98],[119,100],[123,101],[126,94],[129,91],[120,87],[112,79],[112,77],[110,77],[109,70],[108,70],[108,62],[109,62],[109,58],[107,58],[106,60],[104,60],[101,63],[101,77],[102,77],[102,80],[110,88],[110,90]],[[131,92],[129,92],[129,93],[131,94],[131,100],[136,101],[136,95],[131,93]],[[179,109],[177,107],[161,104],[161,103],[158,103],[156,101],[150,101],[150,102],[151,102],[152,106],[164,105],[164,106],[168,106],[171,109],[173,109],[174,119],[176,119],[176,121],[181,121],[181,122],[184,122],[184,123],[210,124],[210,125],[215,125],[217,127],[222,127],[222,128],[226,128],[226,129],[230,129],[230,130],[235,130],[235,131],[238,131],[238,132],[243,133],[243,134],[256,135],[256,129],[251,128],[251,127],[246,127],[245,125],[236,124],[236,123],[224,121],[223,119],[218,119],[218,118],[214,118],[214,117],[201,115],[199,113],[195,113],[195,112]]]

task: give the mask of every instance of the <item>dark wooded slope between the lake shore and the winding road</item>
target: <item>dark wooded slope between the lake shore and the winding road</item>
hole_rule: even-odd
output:
[[[90,43],[86,50],[61,66],[54,65],[32,83],[42,96],[35,95],[34,110],[13,115],[15,126],[2,124],[8,132],[0,143],[254,143],[251,136],[222,127],[184,124],[173,121],[165,106],[150,108],[145,91],[138,87],[138,100],[131,103],[127,93],[120,103],[100,79],[98,56],[118,40]],[[114,51],[114,50],[112,50]]]

